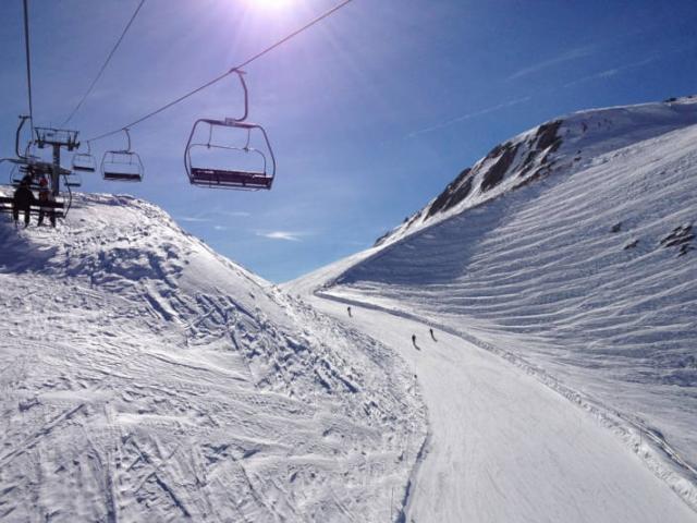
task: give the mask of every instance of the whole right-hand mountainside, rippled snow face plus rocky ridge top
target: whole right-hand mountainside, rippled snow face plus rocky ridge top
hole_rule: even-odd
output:
[[[697,98],[684,98],[523,133],[376,247],[285,288],[503,355],[616,416],[625,442],[697,506],[696,123]]]

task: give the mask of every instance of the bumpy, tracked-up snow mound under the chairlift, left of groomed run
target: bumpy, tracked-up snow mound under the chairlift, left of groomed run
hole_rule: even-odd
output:
[[[130,197],[0,245],[0,520],[402,510],[425,410],[386,346]]]

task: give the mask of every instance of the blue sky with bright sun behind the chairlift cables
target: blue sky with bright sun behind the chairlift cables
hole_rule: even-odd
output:
[[[61,123],[137,0],[30,0],[36,123]],[[337,1],[146,0],[71,122],[89,137],[197,87]],[[0,4],[0,155],[27,111],[22,2]],[[372,244],[493,145],[590,107],[697,93],[697,2],[354,0],[247,68],[249,120],[278,159],[271,192],[193,187],[195,119],[240,112],[235,78],[132,130],[142,184],[217,251],[284,281]],[[114,136],[94,144],[122,148]],[[65,163],[69,158],[65,158]],[[2,183],[8,172],[0,173]]]

